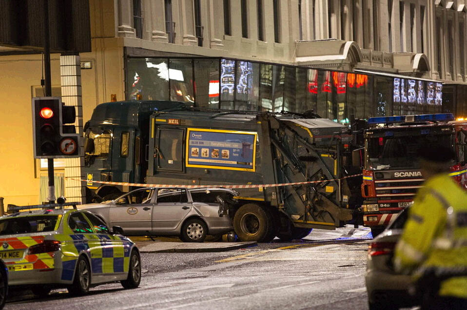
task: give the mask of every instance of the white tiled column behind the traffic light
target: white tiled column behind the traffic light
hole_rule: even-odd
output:
[[[68,202],[85,202],[85,184],[80,179],[84,166],[83,151],[83,105],[81,99],[81,67],[79,55],[60,56],[61,99],[65,105],[76,107],[75,127],[79,134],[81,156],[65,159],[65,197]],[[73,179],[72,179],[73,178]],[[76,180],[75,180],[76,179]]]

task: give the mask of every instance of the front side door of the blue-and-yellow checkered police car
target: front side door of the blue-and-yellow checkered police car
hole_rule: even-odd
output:
[[[96,215],[86,213],[86,217],[96,232],[102,248],[102,273],[105,278],[102,281],[121,280],[126,278],[118,273],[124,272],[123,241],[111,234],[110,229]],[[128,271],[128,270],[127,270]]]

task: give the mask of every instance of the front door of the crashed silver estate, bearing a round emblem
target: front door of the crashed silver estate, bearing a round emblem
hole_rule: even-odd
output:
[[[129,234],[150,231],[153,193],[154,189],[143,188],[116,199],[110,206],[110,226],[121,226]]]

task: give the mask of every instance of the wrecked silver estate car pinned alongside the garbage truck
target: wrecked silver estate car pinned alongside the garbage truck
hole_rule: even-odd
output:
[[[83,205],[126,235],[175,235],[203,242],[208,234],[233,231],[228,202],[237,192],[224,188],[142,188],[110,202]]]

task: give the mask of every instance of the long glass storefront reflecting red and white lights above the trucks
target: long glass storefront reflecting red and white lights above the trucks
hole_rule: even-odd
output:
[[[442,83],[227,58],[127,58],[127,99],[352,117],[441,112]],[[138,96],[140,95],[140,96]]]

